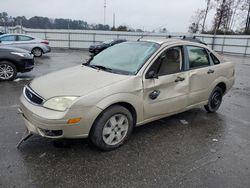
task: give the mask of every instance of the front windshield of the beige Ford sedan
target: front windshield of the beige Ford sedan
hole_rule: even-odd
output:
[[[120,43],[93,57],[89,66],[134,75],[159,47],[153,42]]]

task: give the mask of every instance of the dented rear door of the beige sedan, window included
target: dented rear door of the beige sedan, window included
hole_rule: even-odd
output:
[[[204,102],[210,94],[210,86],[215,80],[215,70],[208,51],[199,46],[186,46],[189,62],[188,106]]]

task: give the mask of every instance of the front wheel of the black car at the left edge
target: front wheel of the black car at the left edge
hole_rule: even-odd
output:
[[[17,68],[9,61],[0,62],[0,81],[11,81],[16,78]]]

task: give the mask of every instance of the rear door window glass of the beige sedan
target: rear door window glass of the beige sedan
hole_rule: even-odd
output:
[[[209,66],[209,57],[205,48],[187,46],[190,68]]]

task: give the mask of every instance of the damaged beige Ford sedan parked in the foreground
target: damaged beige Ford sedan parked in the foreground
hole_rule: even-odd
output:
[[[84,138],[102,150],[139,126],[192,108],[215,112],[234,83],[234,65],[194,42],[124,42],[86,64],[26,85],[20,98],[32,134]]]

